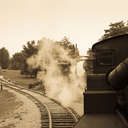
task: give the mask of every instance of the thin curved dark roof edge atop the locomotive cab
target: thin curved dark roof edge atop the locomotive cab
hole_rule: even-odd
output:
[[[95,43],[95,44],[92,45],[92,51],[95,50],[95,47],[96,47],[97,45],[107,43],[107,41],[109,41],[109,40],[115,40],[115,39],[124,38],[124,37],[128,37],[128,34],[119,35],[119,36],[114,36],[114,37],[111,37],[111,38],[102,40],[102,41],[100,41],[100,42],[97,42],[97,43]]]

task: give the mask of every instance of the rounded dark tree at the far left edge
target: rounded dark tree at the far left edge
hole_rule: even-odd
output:
[[[0,49],[0,66],[3,69],[7,69],[9,66],[9,52],[6,48],[1,48]]]

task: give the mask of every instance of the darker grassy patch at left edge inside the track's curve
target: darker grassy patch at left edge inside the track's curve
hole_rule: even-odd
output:
[[[13,123],[9,123],[8,120],[12,118],[12,115],[19,106],[23,103],[15,100],[16,97],[13,93],[3,90],[0,92],[0,127],[12,128]],[[8,122],[8,123],[7,123]]]

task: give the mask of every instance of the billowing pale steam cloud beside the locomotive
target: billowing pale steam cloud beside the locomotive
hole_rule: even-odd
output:
[[[60,62],[58,61],[60,60]],[[58,100],[65,106],[81,102],[85,90],[84,71],[72,59],[68,51],[55,42],[43,38],[39,42],[39,52],[27,60],[33,67],[40,67],[38,78],[44,82],[46,95]],[[70,73],[64,75],[59,63],[70,63]]]

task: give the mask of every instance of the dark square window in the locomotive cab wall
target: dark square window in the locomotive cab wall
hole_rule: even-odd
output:
[[[97,65],[113,66],[115,61],[115,50],[99,50],[96,54]]]

